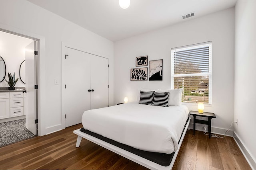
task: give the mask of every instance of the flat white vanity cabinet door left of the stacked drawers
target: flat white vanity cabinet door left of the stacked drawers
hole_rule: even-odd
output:
[[[10,93],[0,93],[0,119],[10,117]]]

